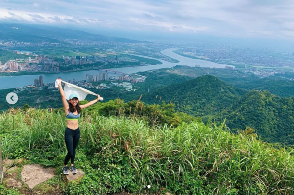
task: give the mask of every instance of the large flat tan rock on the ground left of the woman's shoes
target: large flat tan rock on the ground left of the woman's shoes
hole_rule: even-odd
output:
[[[55,176],[55,168],[43,168],[39,164],[24,165],[21,172],[22,181],[33,189],[36,185]]]

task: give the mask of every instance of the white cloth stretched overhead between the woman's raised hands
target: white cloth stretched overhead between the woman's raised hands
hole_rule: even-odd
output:
[[[60,80],[58,80],[58,79],[55,81],[55,88],[58,88],[59,81]],[[67,100],[69,99],[70,95],[73,94],[73,93],[78,96],[79,100],[86,99],[86,96],[88,94],[97,96],[96,93],[94,93],[92,91],[89,91],[87,89],[84,89],[82,87],[78,87],[76,85],[73,85],[71,83],[68,83],[68,82],[65,82],[65,81],[62,81],[62,80],[61,80],[61,82],[65,84],[63,91],[64,91],[64,94],[65,94],[65,97],[66,97]],[[101,98],[100,100],[103,100],[103,98]]]

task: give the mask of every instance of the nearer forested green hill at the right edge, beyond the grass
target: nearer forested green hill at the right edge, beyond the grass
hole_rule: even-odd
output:
[[[229,127],[253,128],[264,141],[293,144],[293,98],[267,91],[250,91],[218,114]]]

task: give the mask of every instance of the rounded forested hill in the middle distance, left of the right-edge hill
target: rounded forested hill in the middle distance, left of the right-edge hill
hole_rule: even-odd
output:
[[[245,92],[225,84],[217,77],[206,75],[157,89],[143,95],[142,100],[149,104],[154,102],[156,96],[165,102],[172,100],[176,110],[203,117],[221,112]]]

